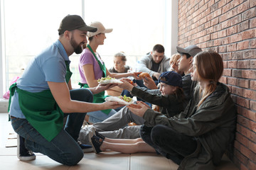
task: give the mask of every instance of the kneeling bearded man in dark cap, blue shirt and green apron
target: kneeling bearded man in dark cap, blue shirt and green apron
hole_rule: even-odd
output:
[[[82,149],[86,149],[78,142],[86,113],[119,107],[116,102],[92,103],[92,94],[105,91],[110,85],[91,89],[71,86],[69,56],[82,52],[87,31],[96,30],[86,26],[80,16],[65,16],[58,40],[36,56],[10,87],[9,115],[18,133],[17,157],[21,161],[36,159],[33,152],[40,152],[60,164],[78,164]]]

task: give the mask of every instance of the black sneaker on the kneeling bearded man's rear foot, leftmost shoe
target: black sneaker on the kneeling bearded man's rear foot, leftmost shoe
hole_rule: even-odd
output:
[[[21,161],[31,161],[36,159],[36,155],[32,151],[26,149],[25,139],[20,135],[17,135],[17,157]]]

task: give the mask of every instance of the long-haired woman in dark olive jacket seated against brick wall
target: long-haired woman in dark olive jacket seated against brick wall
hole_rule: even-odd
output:
[[[198,53],[190,72],[198,86],[185,111],[167,118],[142,102],[128,106],[145,119],[140,132],[143,141],[115,143],[100,135],[97,137],[96,132],[92,136],[96,152],[105,149],[125,153],[129,153],[129,149],[133,153],[157,152],[179,164],[179,169],[214,169],[234,139],[235,103],[228,87],[218,82],[223,74],[223,60],[217,52]]]

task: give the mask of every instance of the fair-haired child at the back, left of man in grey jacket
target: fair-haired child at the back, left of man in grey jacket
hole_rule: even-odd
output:
[[[124,52],[117,52],[114,55],[114,66],[109,69],[110,73],[127,73],[131,67],[126,65],[127,57]],[[122,93],[122,89],[118,86],[114,86],[111,89],[107,90],[107,95],[110,96],[120,96]]]

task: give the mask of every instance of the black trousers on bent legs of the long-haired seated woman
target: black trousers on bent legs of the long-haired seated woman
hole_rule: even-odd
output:
[[[140,136],[144,142],[154,147],[156,152],[176,164],[180,164],[184,157],[195,152],[197,147],[194,137],[182,135],[166,125],[142,125]]]

